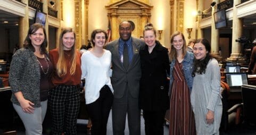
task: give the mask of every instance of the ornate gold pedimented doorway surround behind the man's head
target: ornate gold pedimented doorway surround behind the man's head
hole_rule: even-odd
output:
[[[150,22],[151,9],[153,6],[137,0],[124,0],[105,6],[111,23],[112,40],[119,38],[119,23],[122,21],[133,21],[135,29],[132,36],[143,35],[143,28]]]

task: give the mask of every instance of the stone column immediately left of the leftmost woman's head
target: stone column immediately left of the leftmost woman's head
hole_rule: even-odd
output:
[[[20,17],[19,19],[19,46],[20,48],[23,47],[24,40],[28,34],[28,29],[29,29],[29,15],[28,15],[28,0],[22,0],[22,3],[26,4],[25,7],[25,16]]]

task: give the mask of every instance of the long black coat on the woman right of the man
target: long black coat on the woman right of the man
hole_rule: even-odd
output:
[[[169,108],[170,60],[168,49],[159,41],[151,54],[148,46],[139,51],[141,56],[142,78],[140,80],[139,105],[146,111],[166,110]],[[169,76],[169,75],[168,75]]]

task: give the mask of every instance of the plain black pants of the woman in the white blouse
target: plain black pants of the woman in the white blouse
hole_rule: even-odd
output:
[[[93,103],[87,104],[88,114],[92,120],[92,135],[105,135],[109,113],[113,103],[113,94],[108,86],[103,86],[100,97]]]

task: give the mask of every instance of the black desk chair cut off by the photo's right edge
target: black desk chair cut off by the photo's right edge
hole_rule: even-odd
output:
[[[244,123],[256,125],[256,86],[242,86]]]

